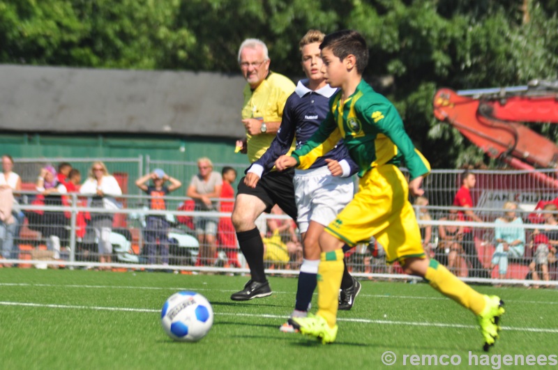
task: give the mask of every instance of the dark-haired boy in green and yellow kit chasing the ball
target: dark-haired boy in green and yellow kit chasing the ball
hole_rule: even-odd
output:
[[[413,146],[395,107],[362,79],[368,47],[356,31],[338,31],[320,45],[326,82],[340,88],[319,130],[292,155],[276,161],[278,170],[306,169],[343,139],[359,165],[359,192],[319,236],[318,311],[295,318],[303,334],[322,343],[335,341],[338,292],[343,271],[342,246],[354,246],[375,236],[386,249],[386,261],[398,261],[405,273],[425,278],[430,286],[471,310],[478,319],[484,350],[495,343],[504,302],[482,295],[443,265],[425,255],[413,208],[408,201],[423,194],[421,183],[430,164]],[[410,180],[398,166],[404,163]]]

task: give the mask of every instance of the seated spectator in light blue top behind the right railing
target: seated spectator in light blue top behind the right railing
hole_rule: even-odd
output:
[[[523,224],[521,217],[518,217],[515,213],[517,209],[518,205],[513,203],[513,201],[506,201],[504,203],[504,210],[506,210],[504,217],[499,217],[495,220],[495,224],[498,224],[498,226],[495,226],[494,238],[498,244],[494,254],[492,254],[490,271],[498,265],[500,279],[506,277],[508,259],[520,258],[525,253],[525,229],[508,226],[511,224]]]

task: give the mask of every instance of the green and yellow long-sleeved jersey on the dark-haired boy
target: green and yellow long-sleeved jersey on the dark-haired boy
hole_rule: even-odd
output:
[[[292,153],[299,168],[310,165],[338,143],[345,141],[349,154],[359,166],[359,177],[382,164],[405,163],[411,179],[430,172],[430,164],[405,132],[397,109],[384,95],[362,80],[345,102],[342,92],[329,101],[330,111],[319,130],[305,145]]]

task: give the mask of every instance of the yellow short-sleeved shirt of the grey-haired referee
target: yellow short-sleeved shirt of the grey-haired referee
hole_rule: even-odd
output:
[[[285,102],[294,88],[294,83],[290,79],[274,72],[269,72],[262,84],[253,91],[247,84],[243,91],[242,119],[259,118],[264,122],[280,122]],[[276,134],[246,134],[250,163],[262,157],[275,137]],[[291,151],[293,149],[294,142]]]

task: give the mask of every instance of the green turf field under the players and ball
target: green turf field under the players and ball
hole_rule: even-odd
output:
[[[428,284],[363,281],[352,311],[339,314],[337,341],[323,346],[278,331],[292,311],[296,279],[271,277],[269,298],[229,300],[246,280],[2,268],[1,368],[398,369],[408,368],[403,356],[414,354],[459,355],[459,367],[469,368],[470,350],[479,362],[484,354],[474,316]],[[504,328],[490,355],[558,353],[557,290],[477,288],[506,302]],[[215,311],[211,332],[193,344],[172,341],[160,326],[165,300],[186,289],[205,295]],[[382,364],[386,351],[397,356],[391,367]]]

